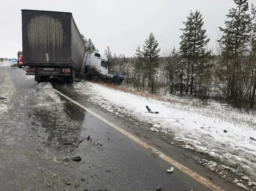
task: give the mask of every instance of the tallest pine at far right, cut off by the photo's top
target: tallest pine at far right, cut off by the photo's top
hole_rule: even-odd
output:
[[[231,8],[228,12],[227,20],[225,20],[225,28],[219,27],[219,30],[223,33],[220,42],[223,50],[223,55],[231,67],[231,74],[227,74],[230,78],[228,81],[227,95],[229,101],[238,106],[241,102],[242,95],[239,90],[239,84],[237,79],[242,69],[242,55],[247,51],[247,45],[249,41],[250,32],[250,14],[248,0],[233,0],[235,8]],[[240,59],[240,60],[239,60]],[[227,66],[226,72],[229,73],[229,66]],[[243,90],[242,90],[243,91]],[[229,96],[230,92],[230,96]],[[239,103],[238,103],[239,102]]]

